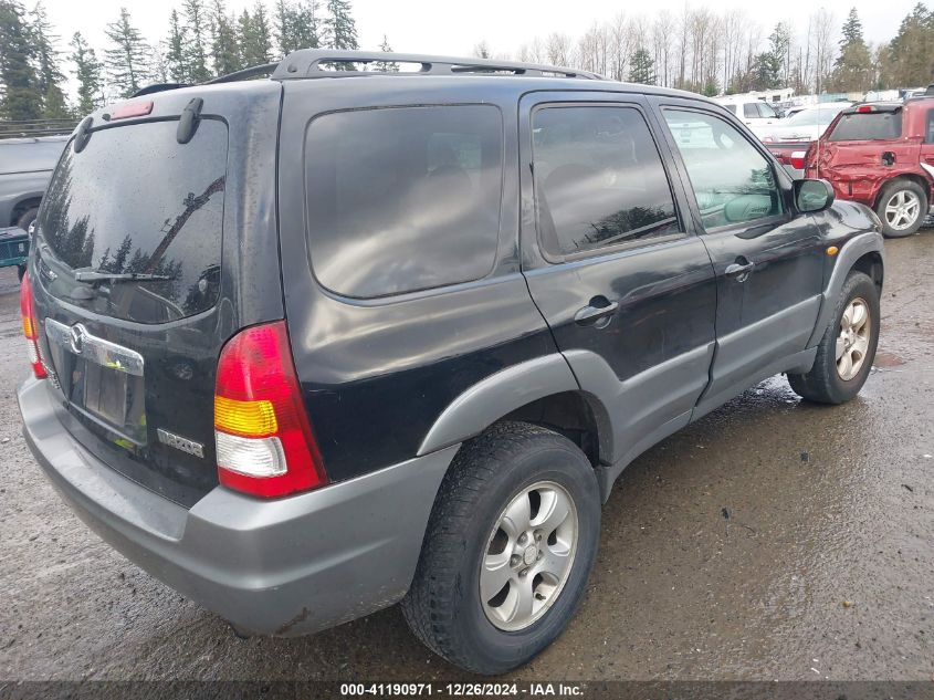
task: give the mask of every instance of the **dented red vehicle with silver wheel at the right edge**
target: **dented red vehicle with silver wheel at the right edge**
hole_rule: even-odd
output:
[[[806,177],[874,209],[886,237],[911,236],[934,201],[934,97],[848,107],[805,160]]]

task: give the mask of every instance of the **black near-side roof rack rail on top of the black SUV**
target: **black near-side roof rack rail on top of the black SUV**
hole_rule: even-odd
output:
[[[396,63],[418,64],[418,70],[384,73],[360,71],[358,64]],[[339,67],[339,66],[344,67]],[[267,66],[264,66],[267,67]],[[252,69],[248,69],[252,70]],[[241,71],[245,72],[245,71]],[[484,75],[505,74],[516,76],[576,77],[606,80],[602,75],[578,69],[538,63],[518,63],[492,59],[459,59],[419,53],[392,53],[389,51],[342,51],[335,49],[300,49],[282,60],[272,72],[272,80],[296,80],[309,77],[350,77],[359,75]],[[237,75],[233,73],[232,75]],[[227,76],[224,76],[227,77]],[[219,82],[223,79],[217,79]],[[238,80],[238,79],[232,79]]]

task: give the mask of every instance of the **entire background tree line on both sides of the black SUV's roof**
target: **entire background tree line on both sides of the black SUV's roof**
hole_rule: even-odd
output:
[[[270,1],[258,0],[235,15],[224,0],[181,0],[168,14],[167,34],[155,43],[120,9],[98,51],[80,32],[63,46],[41,0],[31,10],[21,0],[0,0],[0,119],[71,118],[154,82],[197,83],[298,48],[358,48],[349,0]],[[839,41],[835,27],[832,14],[820,9],[800,36],[780,22],[763,41],[762,27],[742,12],[685,6],[681,15],[619,14],[577,40],[553,33],[524,44],[516,58],[707,95],[780,86],[799,94],[864,92],[934,82],[934,11],[923,2],[880,45],[867,42],[856,9]],[[380,48],[390,51],[385,38]],[[485,42],[474,53],[493,54]],[[375,67],[398,70],[391,62]],[[73,100],[65,94],[66,74],[77,85]]]

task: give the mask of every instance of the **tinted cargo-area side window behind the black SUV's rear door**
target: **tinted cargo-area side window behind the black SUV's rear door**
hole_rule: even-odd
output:
[[[377,297],[485,276],[500,230],[503,124],[492,105],[315,118],[305,138],[312,268]]]

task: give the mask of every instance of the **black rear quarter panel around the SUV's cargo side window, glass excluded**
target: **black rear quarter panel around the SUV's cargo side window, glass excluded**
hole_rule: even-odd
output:
[[[334,481],[414,457],[463,391],[508,366],[556,352],[520,271],[514,88],[424,79],[286,81],[279,211],[292,352],[313,429]],[[454,87],[456,86],[456,88]],[[322,113],[378,106],[494,104],[505,177],[496,261],[484,279],[382,299],[325,290],[311,265],[305,222],[305,134]],[[391,138],[391,135],[387,135]],[[391,245],[391,241],[387,241]],[[375,251],[372,254],[379,254]]]

